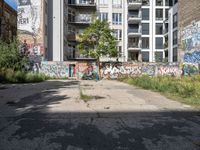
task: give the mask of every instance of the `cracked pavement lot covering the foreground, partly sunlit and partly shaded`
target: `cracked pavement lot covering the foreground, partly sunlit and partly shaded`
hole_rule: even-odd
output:
[[[200,111],[158,93],[117,81],[0,85],[0,150],[198,149]]]

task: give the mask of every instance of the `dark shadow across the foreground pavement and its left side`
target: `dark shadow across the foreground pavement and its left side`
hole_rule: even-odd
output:
[[[8,103],[19,114],[1,117],[1,150],[196,150],[200,112],[48,112],[79,82],[49,81],[47,89]],[[33,85],[34,86],[34,85]],[[39,85],[35,85],[39,86]]]

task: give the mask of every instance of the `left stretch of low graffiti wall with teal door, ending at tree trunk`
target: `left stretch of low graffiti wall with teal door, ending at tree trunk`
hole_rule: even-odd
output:
[[[39,67],[38,67],[39,66]],[[47,62],[36,63],[35,69],[53,78],[76,78],[93,80],[99,76],[95,62]],[[37,71],[35,71],[37,72]]]

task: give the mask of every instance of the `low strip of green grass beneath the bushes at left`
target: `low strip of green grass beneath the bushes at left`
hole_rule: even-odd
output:
[[[36,83],[48,80],[44,74],[27,73],[6,69],[0,71],[0,83]]]

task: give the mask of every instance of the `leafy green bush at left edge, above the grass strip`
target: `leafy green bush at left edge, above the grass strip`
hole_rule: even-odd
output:
[[[5,43],[0,41],[0,70],[12,69],[23,70],[27,64],[27,58],[19,52],[18,41]]]

